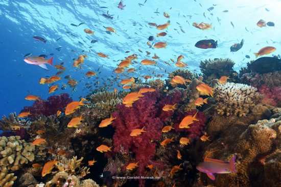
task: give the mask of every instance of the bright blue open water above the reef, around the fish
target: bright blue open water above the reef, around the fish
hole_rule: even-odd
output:
[[[29,95],[37,95],[43,99],[53,94],[69,93],[74,100],[85,96],[91,91],[85,89],[86,83],[100,82],[109,85],[108,77],[116,77],[112,72],[119,64],[119,60],[128,55],[137,54],[137,69],[129,76],[168,73],[177,67],[170,59],[183,55],[184,62],[189,69],[199,72],[201,60],[213,58],[230,58],[236,62],[235,68],[239,70],[249,60],[254,60],[253,52],[265,46],[274,46],[276,50],[268,56],[281,54],[280,29],[281,1],[278,0],[237,0],[237,1],[199,1],[199,0],[174,0],[174,1],[129,1],[124,0],[124,10],[118,8],[119,0],[114,1],[10,1],[0,2],[0,115],[10,112],[17,114],[26,105],[33,101],[25,100]],[[210,9],[213,7],[213,10]],[[226,11],[227,10],[227,11]],[[170,15],[171,25],[165,32],[165,37],[156,37],[157,30],[148,23],[164,24],[168,21],[163,12]],[[105,18],[102,14],[113,15],[112,19]],[[275,26],[259,28],[256,23],[260,19],[272,21]],[[192,26],[193,22],[212,23],[213,29],[203,31]],[[71,25],[84,22],[80,26]],[[232,25],[232,24],[233,25]],[[106,27],[112,27],[116,34],[107,34]],[[90,29],[95,33],[86,34],[83,30]],[[32,37],[40,36],[47,40],[46,43],[35,41]],[[166,48],[149,48],[146,44],[149,36],[154,36],[154,43],[167,42]],[[61,38],[57,41],[58,38]],[[218,40],[218,48],[200,49],[194,45],[203,39]],[[237,52],[230,52],[230,46],[240,43],[244,39],[244,46]],[[97,40],[91,43],[91,40]],[[152,43],[153,43],[152,42]],[[60,51],[56,48],[62,47]],[[90,48],[91,47],[91,48]],[[140,50],[138,50],[140,49]],[[85,50],[85,52],[82,52]],[[126,51],[130,51],[126,54]],[[143,51],[143,52],[140,52]],[[144,67],[139,64],[146,59],[146,52],[160,57],[156,66]],[[109,58],[100,58],[97,52],[107,54]],[[61,75],[58,86],[61,88],[71,75],[79,82],[76,89],[67,87],[65,90],[49,94],[50,85],[40,85],[40,77],[55,75],[57,70],[48,66],[44,70],[39,66],[30,65],[23,61],[24,56],[41,54],[48,58],[54,57],[54,65],[64,62],[66,71]],[[50,54],[54,54],[51,56]],[[79,55],[87,54],[82,69],[72,66],[73,59]],[[245,56],[249,55],[250,59]],[[168,61],[171,66],[167,65]],[[89,70],[97,71],[98,78],[85,77]],[[122,75],[121,78],[125,76]],[[113,88],[119,88],[115,82]],[[95,88],[93,88],[95,89]],[[111,90],[112,90],[111,89]],[[120,88],[121,89],[121,88]]]

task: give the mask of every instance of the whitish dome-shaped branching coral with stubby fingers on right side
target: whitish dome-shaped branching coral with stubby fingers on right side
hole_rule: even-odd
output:
[[[256,88],[244,84],[217,84],[214,91],[217,100],[215,109],[218,114],[226,116],[245,117],[262,98]]]

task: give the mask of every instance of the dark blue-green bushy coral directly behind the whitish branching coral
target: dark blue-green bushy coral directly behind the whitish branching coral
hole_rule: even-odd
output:
[[[228,76],[230,82],[238,81],[238,73],[233,70],[235,63],[230,59],[205,60],[200,63],[200,70],[204,74],[204,81],[210,84],[213,79]]]

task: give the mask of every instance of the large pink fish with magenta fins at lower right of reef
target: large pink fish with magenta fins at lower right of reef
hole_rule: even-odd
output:
[[[208,158],[207,156],[204,158],[204,162],[200,163],[196,169],[206,173],[210,179],[216,179],[213,173],[235,173],[235,155],[231,158],[230,162]]]

